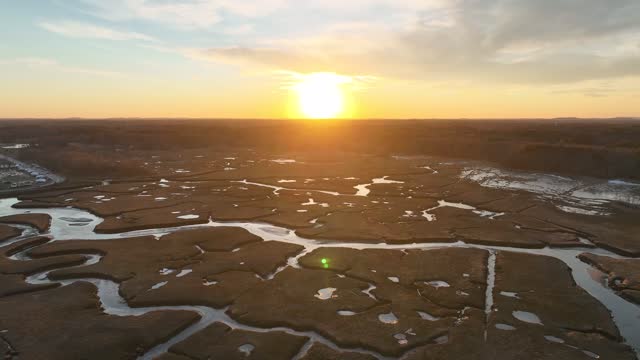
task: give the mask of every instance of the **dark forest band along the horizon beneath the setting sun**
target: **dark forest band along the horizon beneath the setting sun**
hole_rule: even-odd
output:
[[[85,146],[105,156],[115,147],[165,151],[251,148],[327,156],[340,152],[433,155],[530,171],[640,178],[640,122],[622,119],[5,120],[0,122],[0,142],[38,144],[29,151],[40,152],[38,156],[49,161],[65,152],[81,156],[73,153]],[[127,167],[136,166],[126,159],[104,164],[91,161],[91,154],[86,157],[87,166],[96,171],[108,165],[129,173],[133,169]],[[59,161],[64,167],[65,161]]]

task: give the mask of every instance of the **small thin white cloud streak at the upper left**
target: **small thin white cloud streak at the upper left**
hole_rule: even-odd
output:
[[[103,40],[141,40],[148,42],[157,42],[157,40],[149,35],[132,31],[120,31],[103,26],[98,26],[86,22],[78,21],[43,21],[38,23],[41,28],[59,35],[84,38],[84,39],[103,39]]]

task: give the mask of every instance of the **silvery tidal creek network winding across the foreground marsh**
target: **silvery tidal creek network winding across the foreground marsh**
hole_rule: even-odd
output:
[[[594,248],[544,248],[544,249],[521,249],[521,248],[512,248],[512,247],[499,247],[499,246],[483,246],[483,245],[475,245],[468,244],[464,242],[456,242],[456,243],[427,243],[427,244],[408,244],[408,245],[389,245],[386,243],[379,244],[371,244],[371,243],[353,243],[353,242],[341,242],[341,241],[318,241],[313,239],[306,239],[296,235],[295,231],[286,229],[283,227],[273,226],[270,224],[260,223],[260,222],[217,222],[213,219],[210,219],[206,224],[200,225],[188,225],[188,226],[180,226],[180,227],[172,227],[172,228],[160,228],[160,229],[149,229],[149,230],[141,230],[141,231],[132,231],[132,232],[123,232],[119,234],[96,234],[94,229],[100,224],[103,219],[100,217],[91,214],[88,211],[75,209],[75,208],[49,208],[49,209],[15,209],[12,206],[19,201],[15,198],[9,199],[0,199],[0,215],[17,215],[17,214],[27,214],[27,213],[38,213],[38,214],[48,214],[52,218],[50,232],[47,234],[51,241],[68,241],[74,239],[82,239],[82,240],[110,240],[110,239],[118,239],[118,238],[129,238],[136,236],[163,236],[166,234],[170,234],[177,231],[184,231],[190,229],[198,229],[198,228],[206,228],[206,227],[238,227],[243,228],[249,231],[250,233],[259,236],[265,241],[278,241],[284,243],[296,244],[304,247],[304,251],[299,253],[298,255],[290,258],[287,262],[287,265],[278,269],[275,273],[271,274],[266,278],[272,279],[277,273],[283,271],[287,267],[297,268],[298,259],[302,256],[310,253],[311,251],[319,248],[348,248],[348,249],[385,249],[385,250],[393,250],[393,251],[403,251],[403,250],[424,250],[428,251],[430,249],[440,249],[440,248],[476,248],[483,249],[490,253],[489,264],[488,267],[495,265],[495,254],[501,251],[510,251],[517,253],[527,253],[532,255],[544,255],[550,256],[564,262],[568,267],[571,268],[573,278],[578,286],[583,288],[586,292],[588,292],[591,296],[600,301],[612,314],[613,320],[615,324],[619,328],[622,336],[625,339],[625,342],[630,345],[636,355],[640,354],[640,307],[619,297],[614,291],[608,288],[606,285],[601,282],[595,280],[590,275],[590,271],[593,271],[593,268],[580,261],[577,256],[581,253],[592,253],[597,255],[605,255],[618,259],[624,259],[625,257],[614,254],[610,251],[604,249],[594,249]],[[0,247],[7,246],[9,244],[15,243],[17,241],[21,241],[27,238],[30,238],[34,235],[37,235],[37,231],[30,227],[19,226],[23,230],[23,234],[19,237],[16,237],[8,242],[3,243]],[[22,260],[29,261],[27,253],[31,249],[26,249],[18,254],[12,256],[14,260]],[[80,266],[88,266],[91,264],[95,264],[101,260],[101,256],[99,255],[86,255],[87,260],[85,264]],[[127,305],[124,299],[119,295],[119,284],[113,281],[101,280],[101,279],[90,279],[90,278],[82,278],[75,280],[65,280],[65,281],[51,281],[48,279],[48,273],[52,271],[49,270],[47,272],[34,274],[26,279],[27,282],[32,284],[47,284],[47,283],[60,283],[63,286],[78,282],[90,282],[93,283],[98,288],[98,296],[102,303],[102,307],[104,312],[110,315],[115,316],[140,316],[153,311],[193,311],[200,314],[201,319],[195,323],[194,325],[188,327],[183,330],[181,333],[171,338],[166,343],[157,345],[156,347],[150,349],[146,354],[144,354],[141,359],[153,359],[160,354],[165,353],[171,346],[180,341],[188,338],[194,333],[198,332],[201,329],[206,328],[210,324],[214,322],[221,322],[226,324],[227,326],[239,329],[239,330],[248,330],[254,332],[269,332],[269,331],[283,331],[293,335],[299,336],[307,336],[310,338],[309,342],[303,346],[300,350],[300,353],[295,357],[295,359],[299,359],[308,351],[311,345],[314,342],[325,344],[333,349],[340,351],[355,351],[360,353],[365,353],[369,355],[373,355],[378,359],[387,359],[387,357],[378,354],[373,351],[365,350],[365,349],[347,349],[340,347],[333,343],[331,340],[326,339],[325,337],[314,333],[314,332],[301,332],[296,331],[289,328],[279,327],[279,328],[256,328],[252,326],[247,326],[241,324],[226,314],[226,309],[213,309],[209,307],[203,306],[157,306],[157,307],[148,307],[148,308],[131,308]],[[486,292],[486,303],[487,306],[493,303],[493,277],[495,277],[495,271],[489,268],[488,271],[488,279],[487,279],[487,292]],[[487,311],[487,316],[490,316],[490,310]]]

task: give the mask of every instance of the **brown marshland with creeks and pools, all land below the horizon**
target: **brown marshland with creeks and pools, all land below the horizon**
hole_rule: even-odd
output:
[[[6,359],[640,353],[638,122],[5,120],[0,144]]]

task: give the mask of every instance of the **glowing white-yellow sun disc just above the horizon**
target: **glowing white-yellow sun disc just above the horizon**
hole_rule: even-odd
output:
[[[293,87],[298,95],[302,115],[309,119],[333,119],[344,113],[342,86],[351,82],[347,76],[333,73],[302,75]]]

